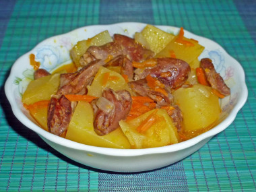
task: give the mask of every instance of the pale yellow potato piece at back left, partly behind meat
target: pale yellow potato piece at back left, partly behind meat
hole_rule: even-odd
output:
[[[86,53],[86,50],[89,48],[89,46],[101,46],[112,41],[113,39],[111,38],[110,34],[107,30],[105,30],[104,32],[96,34],[96,36],[92,38],[88,38],[88,40],[81,40],[77,42],[77,44],[75,44],[75,46],[73,46],[70,51],[73,62],[77,67],[80,67],[81,65],[79,63],[79,59],[82,57],[82,55],[84,55],[84,53]]]

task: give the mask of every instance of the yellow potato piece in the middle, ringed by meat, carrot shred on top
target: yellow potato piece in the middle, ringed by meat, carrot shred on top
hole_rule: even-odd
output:
[[[108,77],[108,79],[106,79],[106,77]],[[96,76],[94,77],[92,85],[88,87],[88,95],[100,97],[104,88],[111,88],[114,91],[128,90],[131,92],[131,89],[127,85],[127,82],[125,82],[122,75],[116,71],[106,69],[105,67],[100,67],[96,73]]]

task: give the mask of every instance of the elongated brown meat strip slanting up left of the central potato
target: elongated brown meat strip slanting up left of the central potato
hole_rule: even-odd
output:
[[[96,75],[98,69],[100,69],[100,66],[103,64],[101,60],[96,60],[75,73],[61,76],[61,87],[57,95],[77,94],[84,90],[86,86],[92,82],[94,75]]]

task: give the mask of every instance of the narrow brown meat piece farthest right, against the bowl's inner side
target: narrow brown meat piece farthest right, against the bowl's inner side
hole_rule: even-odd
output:
[[[200,65],[203,68],[203,71],[205,71],[207,81],[210,83],[212,88],[218,90],[218,92],[224,94],[224,96],[230,95],[230,88],[226,86],[224,80],[220,76],[220,73],[217,73],[214,69],[212,60],[208,58],[201,59]]]

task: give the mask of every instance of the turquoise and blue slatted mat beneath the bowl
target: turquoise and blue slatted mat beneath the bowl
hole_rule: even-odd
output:
[[[191,156],[149,172],[104,172],[50,148],[15,119],[3,86],[38,42],[82,26],[143,22],[185,28],[243,66],[249,97],[234,122]],[[0,191],[255,191],[256,1],[0,1]]]

